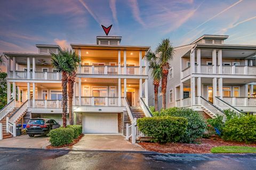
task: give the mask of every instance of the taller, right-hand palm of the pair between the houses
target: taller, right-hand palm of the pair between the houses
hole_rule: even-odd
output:
[[[162,103],[163,108],[166,108],[166,85],[167,78],[170,69],[170,60],[173,58],[173,47],[171,45],[170,39],[163,39],[160,44],[158,44],[156,48],[156,53],[158,54],[159,65],[162,69]]]

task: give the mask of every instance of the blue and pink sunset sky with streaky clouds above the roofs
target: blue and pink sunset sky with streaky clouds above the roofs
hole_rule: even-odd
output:
[[[109,36],[122,45],[174,47],[204,34],[228,35],[227,44],[256,45],[256,0],[0,0],[0,54],[37,53],[35,44],[95,44]]]

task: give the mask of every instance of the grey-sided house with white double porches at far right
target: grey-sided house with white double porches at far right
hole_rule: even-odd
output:
[[[227,38],[204,35],[174,48],[166,90],[168,108],[192,107],[211,117],[224,109],[256,113],[256,46],[225,44]],[[161,109],[162,94],[158,104]]]

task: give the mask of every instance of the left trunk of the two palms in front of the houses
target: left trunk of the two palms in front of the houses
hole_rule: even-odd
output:
[[[63,128],[67,127],[67,103],[68,103],[68,95],[67,95],[67,86],[68,86],[68,74],[65,71],[62,71],[62,120],[63,120]],[[72,106],[71,106],[72,107]]]

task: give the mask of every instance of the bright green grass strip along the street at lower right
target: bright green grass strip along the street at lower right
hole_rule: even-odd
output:
[[[214,154],[217,153],[256,153],[255,147],[244,147],[244,146],[221,146],[214,147],[211,149]]]

